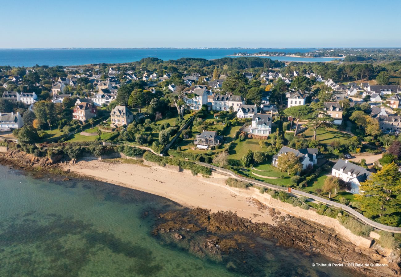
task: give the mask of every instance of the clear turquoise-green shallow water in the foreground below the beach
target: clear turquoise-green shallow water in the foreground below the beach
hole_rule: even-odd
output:
[[[152,235],[153,211],[182,207],[140,191],[4,166],[0,190],[0,276],[351,276],[261,239],[255,270],[200,259]]]

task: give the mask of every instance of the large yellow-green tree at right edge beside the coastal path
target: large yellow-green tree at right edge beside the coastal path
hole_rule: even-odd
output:
[[[372,173],[365,182],[360,183],[362,195],[356,195],[360,209],[366,217],[390,220],[392,225],[399,224],[401,205],[401,172],[395,163],[383,165],[377,173]]]

